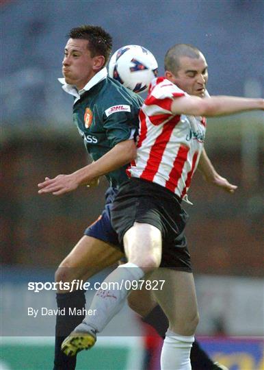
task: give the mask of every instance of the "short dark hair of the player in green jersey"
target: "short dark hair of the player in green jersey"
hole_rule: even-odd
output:
[[[111,54],[112,38],[102,27],[82,25],[70,29],[67,36],[69,38],[88,40],[88,49],[90,50],[92,58],[94,58],[94,56],[104,56],[105,64],[107,64]]]

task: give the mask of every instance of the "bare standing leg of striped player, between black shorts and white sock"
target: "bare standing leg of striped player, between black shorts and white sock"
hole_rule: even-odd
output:
[[[157,269],[152,280],[161,282],[158,290],[153,291],[155,299],[170,321],[170,330],[180,335],[192,335],[198,324],[198,306],[194,276],[186,271]]]

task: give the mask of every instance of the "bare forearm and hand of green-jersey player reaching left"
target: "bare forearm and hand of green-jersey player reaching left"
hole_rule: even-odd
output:
[[[52,193],[62,195],[75,190],[80,185],[86,185],[100,177],[119,169],[135,159],[136,147],[133,140],[124,140],[109,150],[100,159],[88,164],[69,175],[58,175],[53,179],[45,178],[45,181],[38,184],[38,193]]]

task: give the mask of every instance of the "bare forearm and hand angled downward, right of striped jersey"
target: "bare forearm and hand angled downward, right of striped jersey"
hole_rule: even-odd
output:
[[[198,170],[202,172],[202,175],[207,182],[222,188],[222,190],[226,191],[227,193],[234,193],[237,189],[236,185],[230,184],[228,180],[220,176],[219,173],[215,171],[215,168],[213,167],[211,160],[209,160],[207,152],[204,148],[202,149],[198,163]]]

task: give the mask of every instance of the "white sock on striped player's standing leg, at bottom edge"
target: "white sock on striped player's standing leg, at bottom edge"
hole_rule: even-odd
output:
[[[189,354],[194,336],[181,336],[166,332],[161,351],[161,370],[192,370]]]

